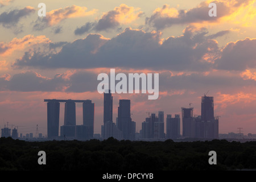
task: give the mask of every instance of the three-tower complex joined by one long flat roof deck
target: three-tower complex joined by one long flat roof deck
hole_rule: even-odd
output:
[[[60,102],[65,102],[64,125],[60,137],[68,139],[92,139],[94,133],[94,103],[91,100],[44,100],[47,102],[47,135],[59,137]],[[82,102],[82,125],[76,125],[76,102]]]

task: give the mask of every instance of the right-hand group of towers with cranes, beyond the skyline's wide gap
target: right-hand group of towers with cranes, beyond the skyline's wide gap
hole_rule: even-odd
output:
[[[201,99],[201,115],[193,116],[193,107],[181,107],[182,138],[217,139],[218,117],[214,117],[213,97],[204,96]],[[166,117],[166,135],[164,134],[164,112],[158,116],[152,113],[142,123],[141,138],[144,139],[178,139],[180,135],[180,115],[171,114]]]

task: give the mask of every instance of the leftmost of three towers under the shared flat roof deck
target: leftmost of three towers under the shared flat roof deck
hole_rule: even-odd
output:
[[[47,102],[47,136],[59,136],[60,102],[51,100]]]

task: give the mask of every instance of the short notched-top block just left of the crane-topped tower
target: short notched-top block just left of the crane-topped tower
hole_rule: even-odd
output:
[[[168,139],[177,139],[180,137],[180,115],[179,114],[175,114],[175,118],[172,118],[171,114],[167,114],[166,135]]]

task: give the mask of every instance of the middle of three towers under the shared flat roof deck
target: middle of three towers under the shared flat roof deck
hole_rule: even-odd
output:
[[[72,102],[65,103],[65,115],[64,115],[64,125],[76,125],[76,103]]]

